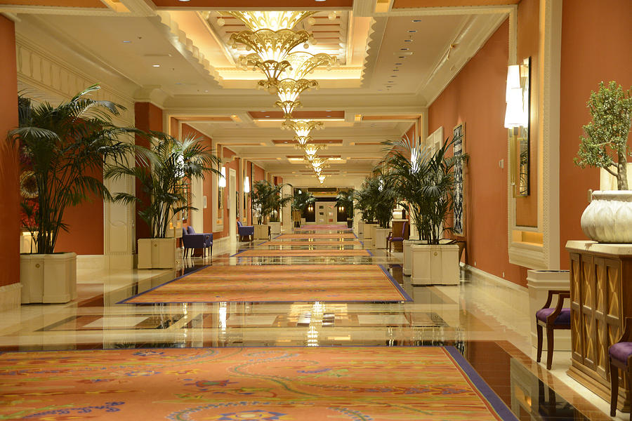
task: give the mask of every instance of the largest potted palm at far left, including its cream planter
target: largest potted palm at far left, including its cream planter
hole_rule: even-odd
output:
[[[117,127],[112,116],[124,107],[89,98],[91,86],[56,107],[18,98],[19,127],[8,133],[18,145],[22,166],[22,223],[34,242],[33,253],[20,255],[22,303],[62,303],[77,298],[77,255],[55,250],[67,206],[97,194],[112,199],[100,178],[105,162],[124,163],[132,143],[125,135],[141,133]]]

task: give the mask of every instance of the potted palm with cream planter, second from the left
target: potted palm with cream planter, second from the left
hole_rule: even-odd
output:
[[[149,203],[135,194],[118,193],[114,200],[138,204],[138,215],[149,225],[152,238],[138,239],[138,268],[171,268],[176,266],[176,236],[180,234],[183,210],[189,205],[185,183],[204,179],[206,173],[220,174],[221,160],[211,154],[202,140],[187,136],[183,140],[164,133],[150,133],[150,147],[136,147],[136,166],[109,166],[105,176],[131,176],[140,182],[140,189]]]

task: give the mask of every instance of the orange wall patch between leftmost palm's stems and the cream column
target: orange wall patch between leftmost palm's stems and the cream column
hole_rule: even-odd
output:
[[[103,169],[93,170],[89,175],[103,181]],[[66,208],[64,222],[68,232],[60,231],[55,251],[74,251],[78,255],[103,254],[103,199],[90,194],[88,200]]]

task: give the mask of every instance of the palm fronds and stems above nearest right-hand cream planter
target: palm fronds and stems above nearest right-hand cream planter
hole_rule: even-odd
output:
[[[419,238],[438,244],[454,210],[454,167],[466,161],[466,154],[447,156],[454,140],[446,140],[434,153],[428,147],[417,153],[406,140],[388,141],[388,154],[382,161],[388,189],[408,203]],[[414,151],[414,152],[413,152]]]

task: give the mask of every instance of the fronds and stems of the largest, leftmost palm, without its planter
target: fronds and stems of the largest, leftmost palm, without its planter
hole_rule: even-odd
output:
[[[91,193],[112,199],[100,178],[90,174],[106,161],[123,163],[133,142],[122,138],[142,133],[112,123],[112,116],[125,109],[121,105],[88,98],[99,88],[90,86],[57,106],[18,98],[19,127],[8,133],[8,141],[19,145],[22,179],[30,185],[21,206],[36,253],[54,252],[60,230],[68,229],[67,206]]]

